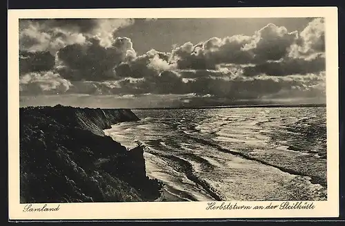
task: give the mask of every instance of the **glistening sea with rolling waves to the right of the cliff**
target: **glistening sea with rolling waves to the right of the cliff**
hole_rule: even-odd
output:
[[[324,106],[132,111],[106,135],[179,200],[327,199]]]

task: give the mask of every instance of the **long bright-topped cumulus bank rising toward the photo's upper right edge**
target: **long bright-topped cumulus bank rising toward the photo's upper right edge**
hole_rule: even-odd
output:
[[[308,65],[311,62],[308,57],[323,52],[324,19],[314,19],[300,34],[269,23],[252,36],[234,35],[223,39],[213,37],[199,44],[187,42],[182,46],[175,46],[170,61],[176,62],[179,69],[195,70],[212,70],[218,64],[262,64],[259,67],[264,67],[277,61],[286,61],[288,67],[293,64]],[[293,61],[295,58],[301,58],[300,62]],[[274,68],[277,63],[270,65]],[[324,63],[320,65],[324,66]],[[308,72],[310,70],[306,70]]]

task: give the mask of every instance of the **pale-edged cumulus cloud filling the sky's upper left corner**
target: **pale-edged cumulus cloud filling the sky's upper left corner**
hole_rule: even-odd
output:
[[[108,47],[114,32],[132,23],[132,19],[21,19],[19,49],[48,50],[54,55],[59,48],[85,44],[88,39],[99,39],[101,46]]]

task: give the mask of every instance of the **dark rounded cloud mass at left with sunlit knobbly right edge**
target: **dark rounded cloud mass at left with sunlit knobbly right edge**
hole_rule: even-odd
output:
[[[130,39],[117,38],[105,48],[92,39],[89,45],[72,44],[59,50],[58,71],[66,79],[103,81],[116,79],[115,66],[135,57]]]

